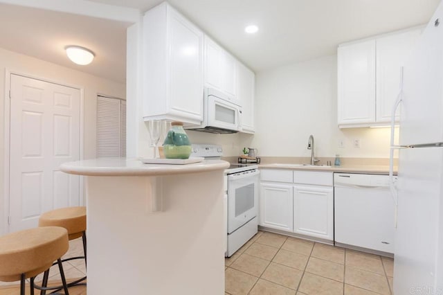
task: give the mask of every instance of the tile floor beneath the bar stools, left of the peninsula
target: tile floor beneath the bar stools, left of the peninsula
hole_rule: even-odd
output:
[[[63,258],[70,258],[75,256],[83,256],[83,243],[82,238],[78,238],[75,240],[69,241],[69,250],[63,256]],[[74,278],[82,278],[86,276],[86,265],[84,265],[84,260],[75,259],[63,262],[63,271],[66,280],[73,280]],[[39,274],[35,278],[35,282],[42,281],[43,274]],[[62,279],[60,278],[60,271],[57,265],[53,265],[49,271],[49,279],[48,282],[60,282]],[[29,280],[28,280],[29,281]],[[19,285],[19,281],[17,282],[0,282],[0,289],[4,286],[9,285]],[[1,295],[1,290],[0,290]]]

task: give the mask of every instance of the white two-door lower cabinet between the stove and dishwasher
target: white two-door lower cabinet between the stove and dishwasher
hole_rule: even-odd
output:
[[[334,240],[332,172],[262,170],[260,226]]]

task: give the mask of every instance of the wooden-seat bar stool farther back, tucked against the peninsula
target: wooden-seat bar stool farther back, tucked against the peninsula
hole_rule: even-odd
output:
[[[48,211],[39,218],[39,226],[61,226],[68,231],[69,240],[75,240],[82,237],[84,256],[77,256],[63,259],[62,262],[73,259],[84,259],[87,264],[87,247],[86,247],[86,207],[67,207]],[[46,287],[48,283],[49,270],[45,271],[42,286]],[[68,287],[80,285],[80,282],[86,280],[86,276],[75,280],[68,284]],[[81,285],[86,285],[82,283]],[[49,289],[49,288],[48,288]],[[62,289],[61,286],[52,287],[51,289]],[[45,293],[43,293],[45,294]]]

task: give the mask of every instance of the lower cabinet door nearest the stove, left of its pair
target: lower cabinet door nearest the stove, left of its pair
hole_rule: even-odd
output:
[[[292,231],[293,187],[285,184],[261,184],[260,225]]]

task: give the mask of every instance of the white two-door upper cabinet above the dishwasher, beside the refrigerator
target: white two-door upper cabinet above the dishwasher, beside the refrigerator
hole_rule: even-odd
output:
[[[338,46],[338,126],[388,125],[421,28]],[[398,118],[397,118],[398,120]]]

